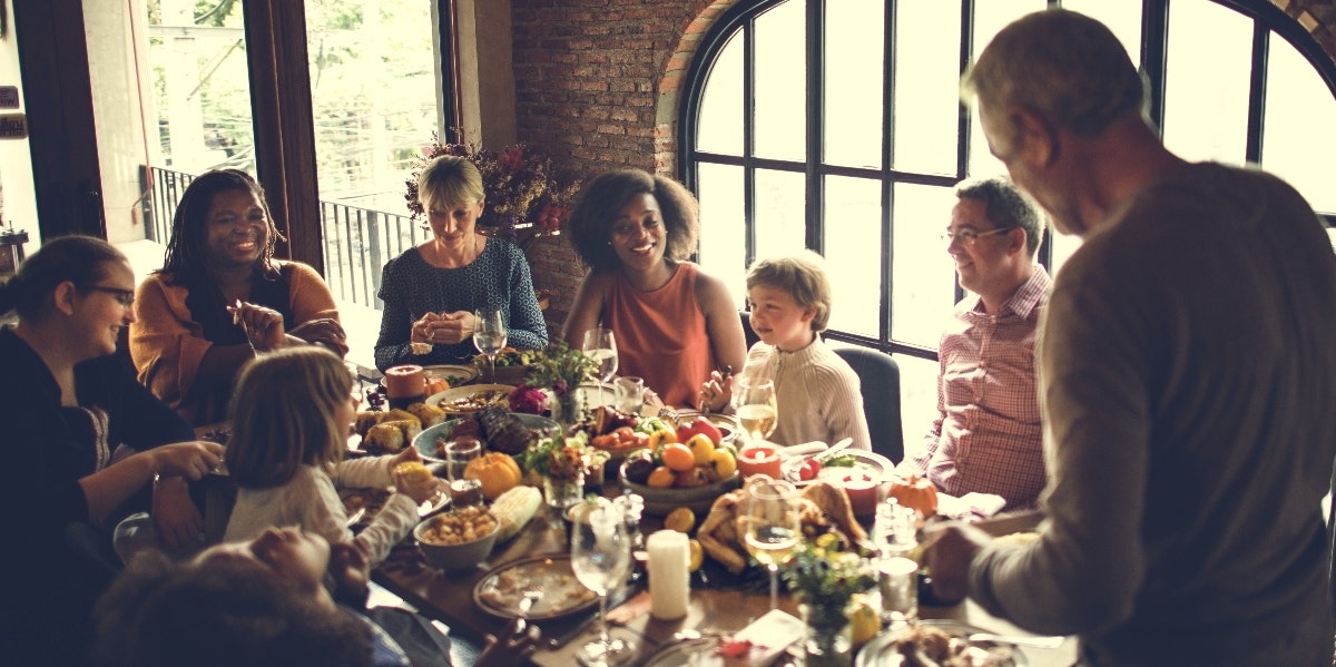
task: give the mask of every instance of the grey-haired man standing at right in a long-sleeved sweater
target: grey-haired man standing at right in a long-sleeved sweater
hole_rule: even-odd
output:
[[[1038,539],[943,524],[938,592],[1075,634],[1082,664],[1331,664],[1336,255],[1312,207],[1165,150],[1118,39],[1079,13],[1003,28],[965,91],[1083,243],[1041,325]]]

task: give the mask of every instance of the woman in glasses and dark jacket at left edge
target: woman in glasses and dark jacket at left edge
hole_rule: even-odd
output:
[[[134,287],[126,257],[88,237],[48,241],[0,285],[0,315],[17,315],[0,327],[0,507],[11,537],[0,655],[11,664],[76,663],[112,575],[90,557],[111,549],[96,527],[128,513],[127,500],[151,481],[159,535],[203,528],[183,480],[218,466],[222,446],[194,441],[112,356],[135,319]]]

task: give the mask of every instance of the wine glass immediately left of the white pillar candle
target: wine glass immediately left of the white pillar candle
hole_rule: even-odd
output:
[[[588,667],[608,667],[635,659],[635,644],[608,635],[608,593],[631,572],[627,523],[608,499],[585,500],[572,511],[570,569],[585,588],[599,593],[599,639],[580,647],[576,658]]]

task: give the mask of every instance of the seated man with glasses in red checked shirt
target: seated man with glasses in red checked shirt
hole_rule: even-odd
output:
[[[953,496],[994,493],[1009,509],[1029,508],[1045,481],[1034,388],[1035,330],[1051,285],[1034,262],[1043,218],[1002,178],[962,183],[955,196],[942,241],[970,295],[942,331],[937,418],[900,472]]]

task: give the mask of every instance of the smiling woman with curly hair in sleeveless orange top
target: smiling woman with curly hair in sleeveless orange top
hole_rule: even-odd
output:
[[[612,329],[617,370],[645,378],[665,405],[695,408],[715,370],[741,370],[741,318],[724,282],[687,258],[696,251],[699,205],[681,183],[641,170],[595,176],[580,191],[565,233],[591,269],[564,337]]]

